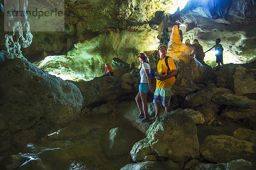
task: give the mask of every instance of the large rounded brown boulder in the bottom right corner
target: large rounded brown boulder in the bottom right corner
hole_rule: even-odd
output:
[[[200,146],[200,153],[208,161],[227,163],[236,159],[255,161],[255,144],[233,136],[210,135]]]

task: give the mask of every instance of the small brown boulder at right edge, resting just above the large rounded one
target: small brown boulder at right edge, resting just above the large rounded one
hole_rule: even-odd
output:
[[[248,142],[256,143],[256,130],[244,129],[239,127],[233,132],[233,136]]]

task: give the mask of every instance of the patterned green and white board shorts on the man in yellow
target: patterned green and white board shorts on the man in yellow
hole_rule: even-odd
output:
[[[169,88],[156,88],[154,92],[154,104],[161,104],[164,107],[171,105],[172,87]]]

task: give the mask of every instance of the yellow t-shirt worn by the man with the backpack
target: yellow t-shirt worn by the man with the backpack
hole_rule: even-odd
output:
[[[170,70],[176,70],[176,66],[174,61],[171,58],[168,58],[168,65]],[[165,64],[165,57],[161,60],[159,60],[157,64],[157,72],[159,73],[165,73],[164,75],[160,74],[160,76],[166,76],[167,75],[167,66]],[[157,88],[169,88],[175,83],[175,77],[171,77],[169,79],[165,79],[163,81],[157,80]]]

